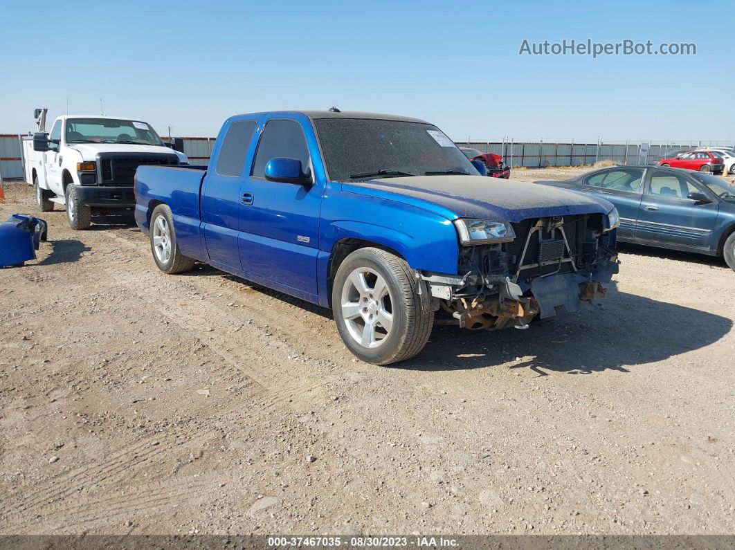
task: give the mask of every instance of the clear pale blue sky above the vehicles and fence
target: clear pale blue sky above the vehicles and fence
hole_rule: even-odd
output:
[[[8,1],[0,133],[32,110],[215,135],[229,115],[390,112],[454,140],[735,140],[735,2]],[[526,39],[697,55],[519,55]]]

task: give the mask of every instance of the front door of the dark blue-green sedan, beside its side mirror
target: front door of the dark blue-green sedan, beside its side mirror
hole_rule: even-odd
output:
[[[709,249],[717,218],[717,203],[698,203],[686,198],[704,192],[683,173],[649,170],[641,202],[636,237],[639,242],[675,248]]]

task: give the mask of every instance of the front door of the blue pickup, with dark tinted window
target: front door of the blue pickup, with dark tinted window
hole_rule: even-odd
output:
[[[307,137],[309,138],[307,140]],[[324,191],[316,138],[309,123],[270,118],[259,129],[251,170],[240,187],[240,262],[243,271],[268,286],[282,286],[306,299],[317,291],[319,210]],[[298,159],[312,173],[311,185],[265,179],[271,159]]]

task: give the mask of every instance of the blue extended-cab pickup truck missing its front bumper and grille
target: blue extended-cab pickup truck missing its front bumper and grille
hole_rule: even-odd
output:
[[[360,112],[226,120],[209,166],[141,166],[135,217],[159,269],[211,264],[331,308],[345,345],[385,365],[434,318],[528,328],[603,297],[617,210],[481,177],[436,126]]]

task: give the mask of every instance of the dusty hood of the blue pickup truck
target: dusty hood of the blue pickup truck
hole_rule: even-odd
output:
[[[414,204],[437,214],[520,222],[529,218],[607,214],[607,200],[581,192],[483,176],[415,176],[343,184],[346,192]]]

